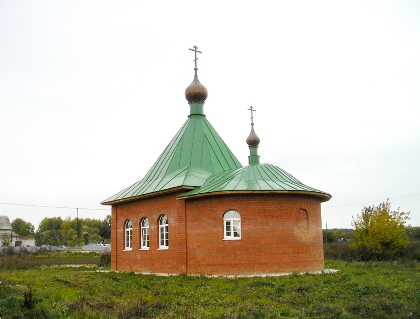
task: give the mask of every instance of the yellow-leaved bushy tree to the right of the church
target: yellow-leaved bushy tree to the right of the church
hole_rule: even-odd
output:
[[[410,212],[391,210],[388,200],[378,206],[364,207],[360,215],[352,217],[355,228],[350,246],[359,248],[369,257],[391,257],[401,253],[408,244],[404,224]],[[368,257],[368,256],[365,256]]]

